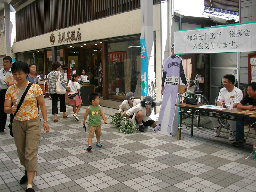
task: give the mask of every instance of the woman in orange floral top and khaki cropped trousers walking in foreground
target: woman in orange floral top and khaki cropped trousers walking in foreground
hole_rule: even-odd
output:
[[[4,112],[7,114],[14,114],[16,112],[22,95],[22,93],[20,95],[19,93],[22,91],[22,88],[27,87],[29,84],[26,80],[29,73],[27,63],[16,61],[12,64],[11,71],[17,84],[10,86],[6,92]],[[49,132],[43,91],[37,84],[31,85],[12,123],[20,164],[25,167],[25,175],[21,178],[20,183],[28,182],[27,192],[34,192],[32,182],[35,172],[38,170],[37,153],[41,138],[41,123],[37,112],[37,102],[40,105],[44,118],[44,131],[46,133]]]

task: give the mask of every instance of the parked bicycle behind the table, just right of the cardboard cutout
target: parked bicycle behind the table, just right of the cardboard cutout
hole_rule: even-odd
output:
[[[204,92],[199,90],[199,81],[197,77],[198,77],[198,74],[196,75],[195,80],[188,81],[189,83],[188,92],[185,98],[183,99],[182,103],[185,103],[186,99],[188,98],[194,98],[197,100],[197,104],[209,105],[209,101],[203,95]],[[197,126],[199,126],[200,116],[197,115],[196,118],[197,118]]]

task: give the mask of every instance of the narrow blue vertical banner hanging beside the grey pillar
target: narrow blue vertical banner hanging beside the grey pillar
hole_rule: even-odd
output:
[[[144,37],[140,37],[141,47],[141,99],[148,95],[148,57]]]

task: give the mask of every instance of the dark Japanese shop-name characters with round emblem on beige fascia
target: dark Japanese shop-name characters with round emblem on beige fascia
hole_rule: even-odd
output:
[[[77,31],[58,31],[58,44],[64,43],[75,43],[74,41],[81,41],[81,33],[79,32],[80,28],[77,28]],[[55,43],[55,35],[52,33],[50,35],[50,43],[54,45]]]

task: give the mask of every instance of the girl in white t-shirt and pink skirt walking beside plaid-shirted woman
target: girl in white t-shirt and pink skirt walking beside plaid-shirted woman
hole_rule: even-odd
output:
[[[68,82],[68,88],[67,88],[68,92],[75,94],[73,99],[69,99],[69,104],[73,105],[73,112],[74,112],[73,117],[75,117],[76,121],[79,121],[77,114],[82,104],[82,100],[80,97],[80,84],[78,83],[78,78],[79,78],[79,75],[74,73],[72,75],[71,81]]]

